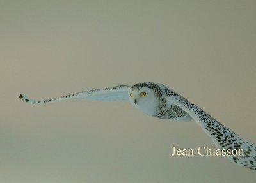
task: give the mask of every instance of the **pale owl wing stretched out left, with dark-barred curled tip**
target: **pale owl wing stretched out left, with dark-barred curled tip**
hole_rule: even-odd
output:
[[[89,91],[78,92],[75,94],[68,94],[59,98],[36,100],[28,98],[23,94],[20,94],[19,98],[28,103],[50,103],[56,101],[63,101],[68,99],[90,99],[90,100],[106,100],[106,101],[120,101],[129,100],[128,91],[129,86],[120,85],[115,87],[106,87],[104,89],[92,89]]]

